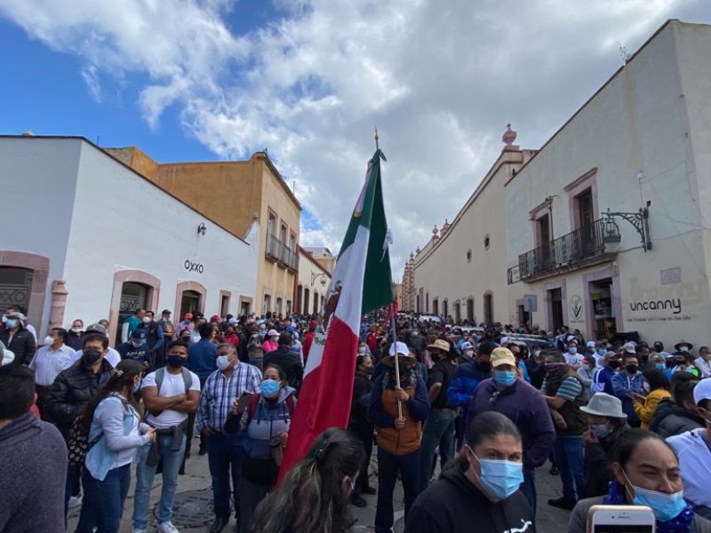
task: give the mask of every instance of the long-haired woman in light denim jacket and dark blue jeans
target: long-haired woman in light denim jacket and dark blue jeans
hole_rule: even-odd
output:
[[[140,424],[133,399],[142,373],[140,362],[119,362],[106,386],[84,408],[84,434],[91,448],[82,474],[84,502],[76,533],[118,531],[133,457],[156,439],[155,429]]]

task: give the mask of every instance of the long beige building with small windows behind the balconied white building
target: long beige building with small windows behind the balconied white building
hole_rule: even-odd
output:
[[[501,155],[479,187],[442,230],[415,251],[408,267],[414,309],[454,322],[505,322],[507,294],[507,219],[503,209],[506,182],[532,152],[513,144],[510,127]]]

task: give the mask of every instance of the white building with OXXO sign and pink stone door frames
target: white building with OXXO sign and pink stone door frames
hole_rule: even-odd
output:
[[[108,318],[117,338],[139,307],[249,311],[259,227],[237,238],[88,140],[0,137],[0,186],[0,307],[40,335]]]

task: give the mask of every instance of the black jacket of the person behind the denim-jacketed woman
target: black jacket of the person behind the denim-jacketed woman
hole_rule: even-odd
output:
[[[44,399],[44,418],[53,422],[67,438],[72,422],[108,381],[111,370],[111,363],[105,359],[99,375],[87,369],[81,360],[62,370]]]

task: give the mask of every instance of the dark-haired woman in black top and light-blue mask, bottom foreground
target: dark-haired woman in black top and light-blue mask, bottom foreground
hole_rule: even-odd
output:
[[[467,426],[465,445],[438,481],[415,500],[405,522],[408,533],[535,533],[535,518],[519,490],[523,442],[515,424],[485,411]]]

